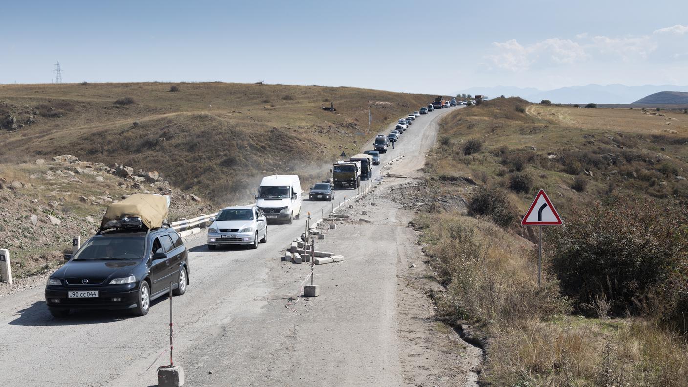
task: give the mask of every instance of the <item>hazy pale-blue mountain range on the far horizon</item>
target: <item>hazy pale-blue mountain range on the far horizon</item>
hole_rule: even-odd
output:
[[[504,96],[519,96],[528,101],[540,102],[544,99],[552,103],[634,103],[649,94],[658,92],[688,92],[688,86],[678,85],[641,85],[627,86],[615,83],[612,85],[596,85],[561,87],[555,90],[538,90],[532,87],[471,87],[456,94],[482,94],[489,98]]]

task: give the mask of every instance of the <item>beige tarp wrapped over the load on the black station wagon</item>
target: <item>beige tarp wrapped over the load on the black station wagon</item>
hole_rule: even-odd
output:
[[[138,216],[149,229],[162,227],[162,221],[167,218],[167,199],[158,195],[129,196],[121,202],[107,206],[100,227],[110,220],[119,220],[125,216]]]

